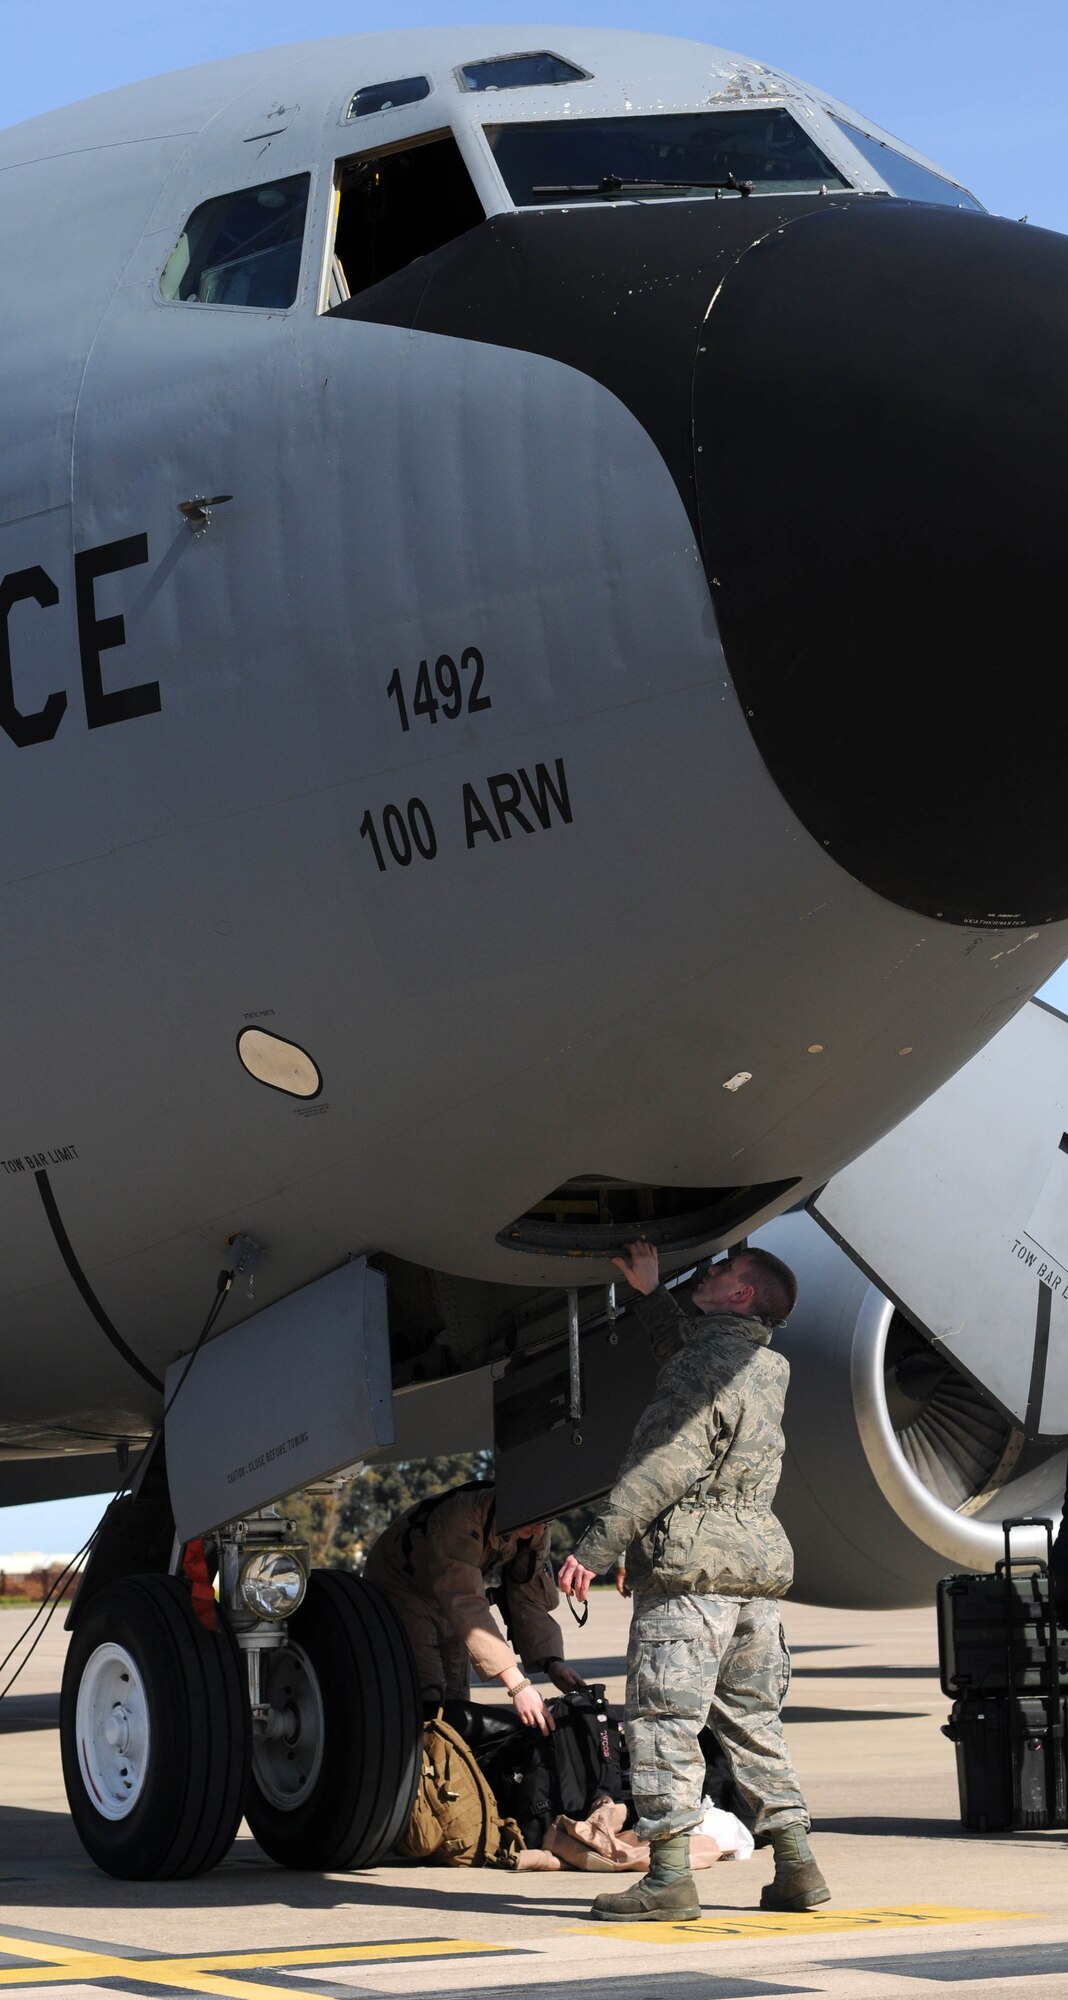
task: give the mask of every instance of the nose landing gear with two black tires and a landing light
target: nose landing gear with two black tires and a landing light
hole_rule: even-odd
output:
[[[66,1796],[90,1858],[124,1880],[214,1868],[242,1810],[284,1868],[370,1868],[412,1814],[422,1704],[390,1604],[348,1570],[312,1570],[296,1612],[252,1616],[250,1594],[284,1604],[290,1572],[266,1550],[278,1522],[236,1526],[216,1630],[184,1578],[160,1574],[100,1584],[74,1622]],[[244,1612],[230,1572],[252,1574]]]

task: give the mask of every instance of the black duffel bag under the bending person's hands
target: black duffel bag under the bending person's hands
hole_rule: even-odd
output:
[[[608,1708],[604,1686],[560,1694],[546,1708],[556,1722],[552,1736],[488,1702],[444,1704],[444,1718],[474,1750],[498,1812],[518,1822],[528,1848],[540,1848],[558,1812],[584,1820],[596,1798],[628,1802],[624,1726]]]

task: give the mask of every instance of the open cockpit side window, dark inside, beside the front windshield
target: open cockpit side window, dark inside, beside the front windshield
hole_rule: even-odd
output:
[[[328,304],[366,292],[484,220],[452,132],[342,160]]]

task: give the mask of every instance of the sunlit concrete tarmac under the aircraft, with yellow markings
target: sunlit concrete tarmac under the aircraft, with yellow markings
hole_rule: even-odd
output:
[[[28,1616],[0,1612],[0,1656]],[[590,1924],[606,1876],[286,1874],[244,1830],[196,1882],[114,1882],[66,1814],[60,1618],[0,1702],[0,2000],[1068,2000],[1068,1832],[962,1832],[932,1610],[784,1606],[786,1730],[832,1902],[762,1914],[762,1850],[698,1874],[702,1920],[680,1926]],[[628,1606],[596,1592],[584,1632],[568,1634],[610,1700],[622,1700],[626,1624]]]

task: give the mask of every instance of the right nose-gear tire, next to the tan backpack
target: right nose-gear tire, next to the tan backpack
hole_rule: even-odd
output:
[[[422,1702],[396,1612],[348,1570],[312,1570],[264,1698],[288,1740],[256,1740],[244,1816],[284,1868],[374,1868],[412,1816]]]

